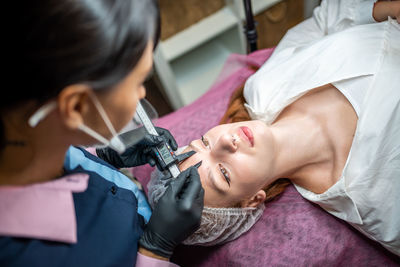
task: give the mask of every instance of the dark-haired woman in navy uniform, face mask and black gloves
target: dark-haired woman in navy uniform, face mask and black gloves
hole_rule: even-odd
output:
[[[0,98],[0,266],[175,266],[173,249],[200,223],[197,169],[182,172],[153,212],[117,169],[154,164],[147,151],[160,142],[177,148],[162,128],[130,147],[117,135],[145,96],[157,4],[6,5],[15,23]],[[108,148],[98,157],[82,148],[99,142]]]

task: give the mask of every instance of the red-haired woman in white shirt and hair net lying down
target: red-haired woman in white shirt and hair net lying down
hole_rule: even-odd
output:
[[[222,120],[230,123],[185,149],[197,153],[181,169],[202,160],[206,206],[186,244],[237,238],[290,181],[400,255],[400,25],[390,18],[399,11],[400,1],[322,1],[289,30],[232,97]],[[166,182],[157,176],[152,204]]]

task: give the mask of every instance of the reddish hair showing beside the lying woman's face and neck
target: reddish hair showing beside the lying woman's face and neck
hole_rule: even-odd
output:
[[[244,107],[245,100],[243,96],[243,89],[244,86],[241,86],[238,89],[236,89],[231,95],[228,109],[222,116],[222,119],[219,122],[220,124],[251,120],[249,113]],[[269,184],[266,187],[264,187],[263,190],[267,196],[265,202],[272,201],[275,197],[281,194],[289,184],[290,184],[289,179],[280,178],[274,181],[272,184]]]

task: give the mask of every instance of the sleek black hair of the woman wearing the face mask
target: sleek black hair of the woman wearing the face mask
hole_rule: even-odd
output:
[[[71,84],[108,89],[132,71],[160,32],[156,0],[6,1],[3,10],[12,20],[2,38],[2,111],[29,100],[41,104]]]

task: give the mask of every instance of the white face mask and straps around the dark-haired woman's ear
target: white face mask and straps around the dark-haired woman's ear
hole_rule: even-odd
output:
[[[100,101],[97,99],[95,94],[90,94],[90,97],[97,109],[97,111],[100,113],[100,116],[102,117],[103,121],[106,123],[106,126],[108,130],[112,134],[112,138],[110,140],[106,139],[90,127],[86,126],[84,123],[78,126],[78,129],[85,132],[86,134],[90,135],[94,139],[98,140],[101,144],[104,146],[109,146],[110,148],[114,149],[118,153],[122,154],[126,150],[125,144],[122,142],[122,140],[119,138],[117,132],[115,131],[114,126],[112,125],[110,119],[108,118],[103,106],[101,105]],[[50,114],[55,108],[57,107],[57,103],[55,101],[52,101],[50,103],[47,103],[46,105],[42,106],[39,108],[30,118],[28,121],[28,124],[33,128],[36,127],[36,125],[43,120],[47,115]]]

